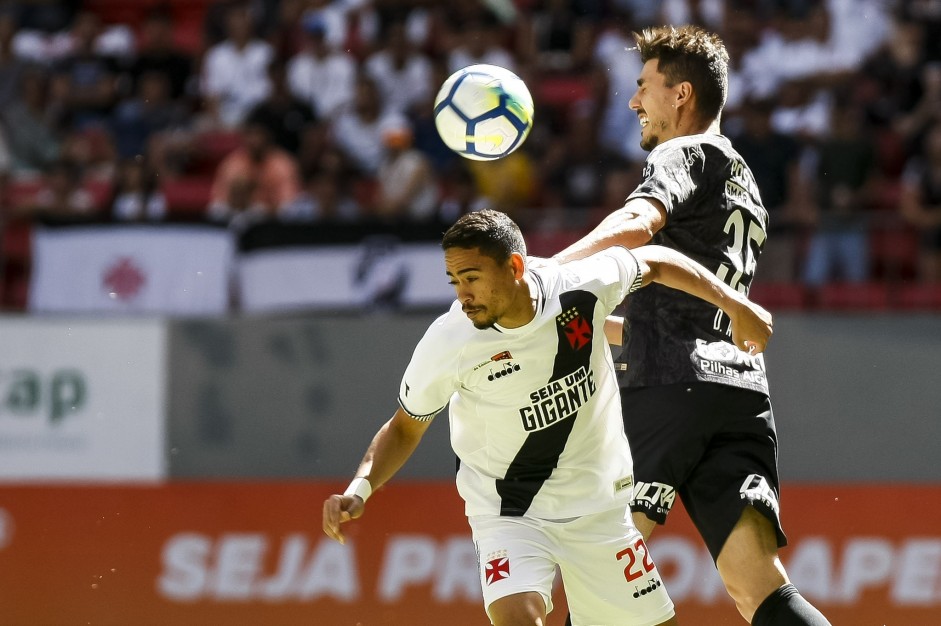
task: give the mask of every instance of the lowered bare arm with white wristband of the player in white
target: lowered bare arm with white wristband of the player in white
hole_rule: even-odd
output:
[[[431,420],[419,421],[401,408],[382,425],[359,464],[356,478],[342,494],[333,494],[323,503],[323,531],[331,539],[344,542],[340,525],[363,514],[366,500],[374,489],[391,479],[405,464],[421,441]]]

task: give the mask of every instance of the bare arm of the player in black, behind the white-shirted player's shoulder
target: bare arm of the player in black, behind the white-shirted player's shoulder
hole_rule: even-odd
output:
[[[666,224],[666,210],[653,198],[633,198],[598,224],[590,233],[553,255],[564,263],[583,259],[611,246],[637,248]]]

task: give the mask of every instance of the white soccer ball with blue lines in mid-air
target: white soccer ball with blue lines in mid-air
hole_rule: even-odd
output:
[[[522,145],[533,127],[526,83],[496,65],[452,74],[435,98],[435,127],[445,145],[468,159],[492,161]]]

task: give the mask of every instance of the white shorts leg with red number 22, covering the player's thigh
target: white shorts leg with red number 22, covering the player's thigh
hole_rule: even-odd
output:
[[[626,509],[586,515],[558,536],[573,626],[654,626],[673,616],[663,577]]]

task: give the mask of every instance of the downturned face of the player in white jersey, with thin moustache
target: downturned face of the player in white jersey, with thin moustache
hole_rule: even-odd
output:
[[[448,279],[464,314],[483,330],[514,315],[517,272],[510,259],[500,263],[479,248],[448,248],[444,252]],[[528,320],[527,320],[528,321]]]

